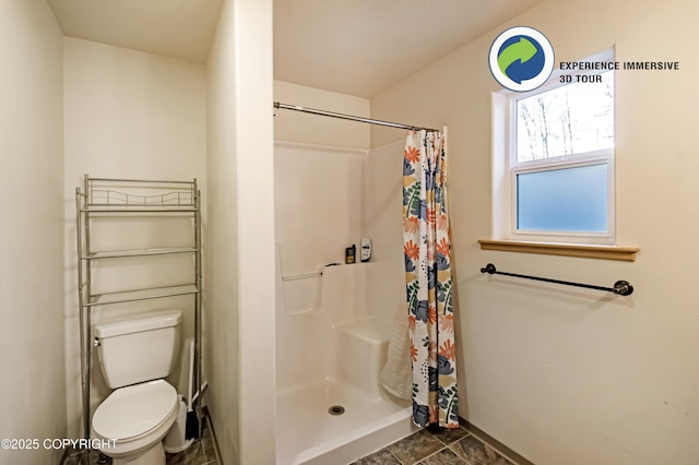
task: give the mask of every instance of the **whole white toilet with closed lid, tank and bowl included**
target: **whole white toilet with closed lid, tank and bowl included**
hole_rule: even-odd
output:
[[[93,415],[92,438],[116,440],[100,450],[114,465],[165,464],[163,438],[179,402],[163,378],[177,360],[181,321],[180,310],[165,310],[95,325],[99,366],[115,391]]]

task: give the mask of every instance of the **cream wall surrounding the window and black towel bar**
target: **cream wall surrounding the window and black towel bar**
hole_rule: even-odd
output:
[[[534,463],[696,463],[699,228],[694,116],[699,65],[691,1],[548,0],[371,100],[374,118],[449,126],[458,283],[460,413]],[[616,47],[618,61],[679,61],[680,71],[616,80],[617,242],[635,263],[481,251],[490,235],[490,93],[497,34],[528,25],[557,61]],[[396,136],[372,131],[372,144]],[[514,273],[609,286],[631,297],[488,278]]]

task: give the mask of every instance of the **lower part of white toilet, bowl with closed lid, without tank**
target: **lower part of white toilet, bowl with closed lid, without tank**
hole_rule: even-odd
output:
[[[179,410],[177,391],[165,380],[114,391],[92,420],[92,438],[109,444],[102,450],[114,465],[164,464],[163,438]]]

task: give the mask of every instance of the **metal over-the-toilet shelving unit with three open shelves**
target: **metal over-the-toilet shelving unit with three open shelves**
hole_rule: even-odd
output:
[[[82,188],[75,189],[76,240],[78,240],[78,299],[80,306],[81,381],[83,402],[83,432],[90,438],[92,412],[90,389],[92,379],[92,312],[95,307],[112,303],[134,302],[167,297],[194,297],[194,392],[201,390],[201,194],[197,179],[192,181],[156,181],[84,177]],[[193,224],[193,243],[181,247],[163,247],[126,250],[93,250],[91,224],[105,216],[155,218],[183,216]],[[155,219],[154,219],[155,220]],[[187,283],[167,286],[130,288],[119,291],[95,293],[93,289],[94,265],[98,261],[112,259],[153,258],[191,254],[193,276]],[[194,401],[201,437],[201,395]]]

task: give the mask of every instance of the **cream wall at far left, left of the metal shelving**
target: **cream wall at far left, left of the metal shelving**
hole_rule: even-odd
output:
[[[2,438],[63,438],[63,44],[44,1],[0,2]],[[0,450],[57,464],[62,451]]]

